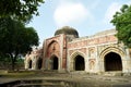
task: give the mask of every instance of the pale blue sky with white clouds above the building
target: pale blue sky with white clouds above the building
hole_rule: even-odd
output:
[[[38,8],[39,16],[34,16],[27,26],[36,29],[39,47],[46,38],[63,26],[71,26],[80,37],[115,28],[112,15],[131,0],[45,0]]]

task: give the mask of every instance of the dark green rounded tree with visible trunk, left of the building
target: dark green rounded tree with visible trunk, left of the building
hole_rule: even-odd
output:
[[[10,17],[0,18],[0,55],[11,59],[12,70],[19,55],[31,51],[33,46],[38,46],[38,35],[33,27]]]

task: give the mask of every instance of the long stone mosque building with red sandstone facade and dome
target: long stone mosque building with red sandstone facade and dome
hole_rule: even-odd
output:
[[[76,29],[64,26],[44,40],[43,48],[25,57],[26,70],[58,72],[131,73],[131,49],[118,44],[116,29],[79,37]]]

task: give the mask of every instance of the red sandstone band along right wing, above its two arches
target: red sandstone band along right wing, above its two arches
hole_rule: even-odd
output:
[[[87,39],[83,40],[74,40],[72,42],[68,44],[69,55],[71,55],[74,51],[81,51],[86,54],[86,51],[90,49],[86,49],[87,46],[94,46],[94,45],[102,45],[102,44],[108,44],[117,41],[118,39],[114,35],[103,36],[103,37],[88,37]]]

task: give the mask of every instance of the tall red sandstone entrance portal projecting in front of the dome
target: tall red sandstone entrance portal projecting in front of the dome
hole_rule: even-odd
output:
[[[58,71],[66,70],[67,63],[67,39],[66,35],[57,35],[44,42],[43,69],[53,70],[55,58],[58,60]]]

